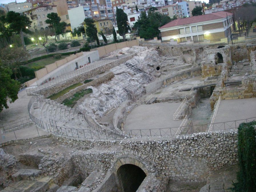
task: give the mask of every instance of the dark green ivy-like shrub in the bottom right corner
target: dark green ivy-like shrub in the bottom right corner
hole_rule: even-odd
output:
[[[256,121],[241,123],[238,127],[237,183],[233,191],[251,192],[256,189]]]

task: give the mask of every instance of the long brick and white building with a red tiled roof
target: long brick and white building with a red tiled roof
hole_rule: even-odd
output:
[[[178,43],[193,41],[199,42],[210,39],[211,42],[229,37],[229,27],[232,31],[233,14],[225,11],[198,15],[183,19],[175,19],[159,27],[162,40],[174,40]],[[229,23],[229,25],[228,25]]]

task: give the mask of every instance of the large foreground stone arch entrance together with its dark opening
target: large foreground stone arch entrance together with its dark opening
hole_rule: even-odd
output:
[[[135,192],[148,175],[156,173],[154,166],[135,155],[123,155],[112,165],[119,192]]]

